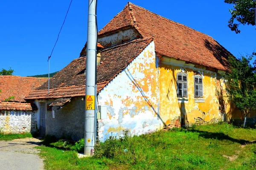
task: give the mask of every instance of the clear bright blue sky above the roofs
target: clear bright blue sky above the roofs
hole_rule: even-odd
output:
[[[112,3],[111,3],[112,2]],[[14,75],[48,73],[47,57],[63,23],[70,0],[7,0],[0,2],[0,69],[12,67]],[[50,61],[50,72],[78,58],[87,35],[87,0],[73,0]],[[127,0],[98,0],[98,26],[103,28]],[[227,27],[229,4],[224,0],[131,0],[156,14],[203,32],[232,54],[256,51],[254,26],[240,26],[236,34]]]

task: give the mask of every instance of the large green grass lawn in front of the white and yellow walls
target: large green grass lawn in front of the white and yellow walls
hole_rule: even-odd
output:
[[[46,170],[255,170],[254,140],[256,129],[223,123],[113,138],[83,159],[68,142],[46,140],[38,148]]]

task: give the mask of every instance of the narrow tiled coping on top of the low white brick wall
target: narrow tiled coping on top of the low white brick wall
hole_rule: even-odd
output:
[[[35,111],[38,110],[35,104],[20,102],[0,102],[0,111]]]

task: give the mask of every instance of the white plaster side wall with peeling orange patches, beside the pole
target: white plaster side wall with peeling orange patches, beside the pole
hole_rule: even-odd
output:
[[[108,119],[98,121],[100,141],[105,141],[109,136],[122,136],[123,130],[128,130],[131,135],[140,135],[163,127],[163,122],[157,116],[160,95],[155,61],[152,41],[99,93],[99,105],[108,107]]]

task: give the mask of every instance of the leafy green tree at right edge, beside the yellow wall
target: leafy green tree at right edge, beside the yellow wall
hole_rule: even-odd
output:
[[[256,74],[255,67],[250,64],[252,56],[236,59],[230,57],[231,71],[224,78],[227,80],[229,99],[244,114],[244,126],[247,115],[256,109]]]

